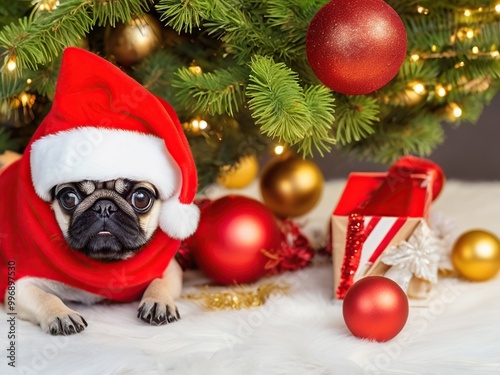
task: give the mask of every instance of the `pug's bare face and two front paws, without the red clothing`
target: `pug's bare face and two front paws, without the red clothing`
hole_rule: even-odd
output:
[[[52,198],[52,209],[68,245],[101,262],[133,257],[158,227],[158,191],[145,181],[65,183],[52,189]],[[85,319],[63,300],[96,303],[103,299],[41,278],[23,278],[16,287],[18,316],[52,335],[69,335],[87,327]],[[163,277],[147,287],[137,317],[152,325],[179,320],[174,299],[181,288],[182,269],[172,259]]]

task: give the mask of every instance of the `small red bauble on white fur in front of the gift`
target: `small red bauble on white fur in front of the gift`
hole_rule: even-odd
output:
[[[342,313],[354,336],[387,341],[408,319],[408,297],[401,287],[383,276],[367,276],[347,291]]]

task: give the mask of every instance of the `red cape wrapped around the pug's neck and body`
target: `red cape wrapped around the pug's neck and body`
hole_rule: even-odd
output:
[[[32,186],[29,147],[23,158],[0,174],[0,292],[8,287],[8,262],[15,279],[41,277],[129,302],[160,277],[175,255],[179,240],[157,230],[132,258],[102,263],[71,249],[64,240],[50,204]]]

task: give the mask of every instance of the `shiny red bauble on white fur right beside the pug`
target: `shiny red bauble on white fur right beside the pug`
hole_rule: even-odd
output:
[[[281,245],[273,213],[259,201],[239,195],[219,198],[201,211],[192,241],[198,267],[221,284],[249,283],[266,273],[262,249]]]

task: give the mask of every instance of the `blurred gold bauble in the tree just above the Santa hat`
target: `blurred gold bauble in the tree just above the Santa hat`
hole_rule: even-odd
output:
[[[160,22],[149,14],[118,24],[106,30],[106,52],[113,55],[118,64],[135,65],[161,45],[162,30]]]

